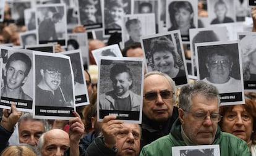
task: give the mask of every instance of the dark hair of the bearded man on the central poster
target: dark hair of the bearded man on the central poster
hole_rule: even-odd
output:
[[[129,80],[132,80],[132,73],[130,72],[130,68],[126,66],[126,64],[114,64],[114,66],[110,69],[110,79],[114,81],[114,77],[119,73],[127,73],[129,75]],[[129,89],[132,88],[132,84]]]

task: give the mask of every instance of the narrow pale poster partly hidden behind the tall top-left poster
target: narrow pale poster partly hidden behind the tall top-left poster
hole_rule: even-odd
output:
[[[36,30],[35,8],[25,9],[24,15],[27,31]]]

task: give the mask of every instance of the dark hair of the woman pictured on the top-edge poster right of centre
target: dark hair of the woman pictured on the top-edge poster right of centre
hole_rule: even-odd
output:
[[[175,28],[174,30],[176,30],[179,26],[177,25],[177,22],[175,20],[175,13],[179,11],[179,9],[184,8],[186,10],[188,10],[190,12],[190,14],[194,13],[193,7],[191,5],[191,3],[189,1],[174,1],[171,2],[171,4],[169,4],[168,6],[168,11],[169,11],[169,18],[171,21],[171,24],[173,25],[173,27]],[[190,20],[190,26],[191,27],[195,27],[194,25],[194,18],[192,18]]]

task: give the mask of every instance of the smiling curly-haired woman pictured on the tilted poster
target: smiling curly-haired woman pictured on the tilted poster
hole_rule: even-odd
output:
[[[186,75],[185,70],[181,69],[183,62],[174,47],[173,41],[166,36],[160,36],[151,41],[150,55],[153,60],[151,65],[153,70],[166,73],[171,78]]]

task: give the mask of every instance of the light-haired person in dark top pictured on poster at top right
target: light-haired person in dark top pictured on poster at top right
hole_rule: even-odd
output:
[[[232,23],[234,20],[230,17],[227,17],[228,7],[223,0],[219,0],[214,5],[214,11],[216,18],[211,21],[211,24],[220,24],[220,23]]]

